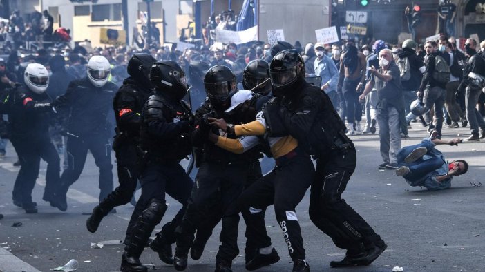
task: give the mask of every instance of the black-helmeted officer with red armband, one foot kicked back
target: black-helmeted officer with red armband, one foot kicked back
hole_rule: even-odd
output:
[[[128,62],[129,78],[115,94],[113,110],[116,119],[116,136],[113,149],[116,152],[118,180],[120,186],[111,192],[94,209],[86,221],[88,231],[95,233],[104,216],[116,206],[128,203],[136,189],[140,176],[140,161],[137,146],[140,145],[140,113],[146,100],[153,94],[149,79],[151,65],[157,60],[149,54],[134,54]],[[129,226],[140,216],[140,205],[135,208]],[[127,234],[131,227],[128,228]]]

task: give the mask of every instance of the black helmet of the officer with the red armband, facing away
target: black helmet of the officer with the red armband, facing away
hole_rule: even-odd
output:
[[[137,83],[142,84],[143,87],[151,89],[149,74],[151,65],[156,61],[157,60],[150,54],[135,53],[128,61],[126,70]]]

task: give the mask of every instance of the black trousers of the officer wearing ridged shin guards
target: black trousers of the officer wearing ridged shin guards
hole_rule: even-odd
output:
[[[175,242],[175,228],[182,224],[182,218],[192,191],[193,181],[178,162],[157,163],[151,160],[146,163],[146,166],[140,174],[140,183],[142,185],[142,196],[140,196],[137,202],[133,215],[135,215],[137,209],[140,207],[141,210],[139,213],[141,214],[142,210],[146,209],[153,199],[160,200],[164,203],[165,193],[182,204],[182,208],[171,222],[164,225],[161,231],[168,242]],[[136,219],[132,216],[131,221],[136,222]],[[156,224],[153,225],[153,227],[155,226]]]

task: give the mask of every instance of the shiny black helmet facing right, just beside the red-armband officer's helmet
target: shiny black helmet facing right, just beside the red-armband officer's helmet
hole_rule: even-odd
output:
[[[187,94],[185,72],[175,61],[157,61],[150,70],[150,81],[155,90],[167,92],[180,100]]]

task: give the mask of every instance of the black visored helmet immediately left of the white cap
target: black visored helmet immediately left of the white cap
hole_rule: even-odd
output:
[[[204,87],[213,107],[227,109],[231,96],[238,92],[236,76],[228,67],[216,65],[205,74]]]

